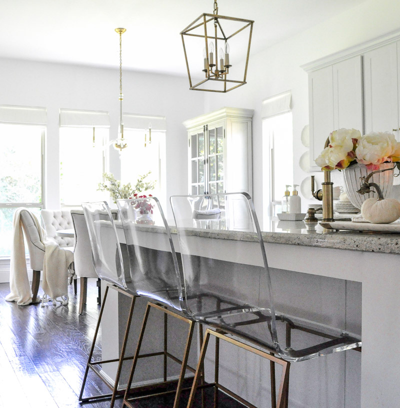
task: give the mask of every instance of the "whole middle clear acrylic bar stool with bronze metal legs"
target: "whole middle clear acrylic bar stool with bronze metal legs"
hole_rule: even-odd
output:
[[[180,364],[180,373],[176,384],[176,389],[156,392],[146,397],[175,393],[173,407],[179,406],[179,398],[182,391],[184,375],[187,370],[194,372],[194,368],[189,367],[187,359],[194,329],[194,320],[185,315],[183,310],[183,294],[178,258],[174,250],[169,227],[166,223],[161,205],[155,197],[144,197],[137,199],[117,200],[127,250],[129,254],[130,273],[136,293],[149,299],[136,352],[132,362],[132,368],[123,399],[124,406],[134,407],[130,398],[129,390],[135,373],[138,358],[149,355],[163,355],[163,381],[167,381],[166,369],[167,358]],[[167,309],[166,307],[169,307]],[[162,351],[140,354],[143,335],[150,310],[164,313],[164,347]],[[188,325],[187,336],[185,338],[183,357],[177,358],[167,349],[166,331],[167,318],[174,317],[184,321]],[[202,341],[202,330],[200,341]],[[172,405],[172,404],[171,404]]]

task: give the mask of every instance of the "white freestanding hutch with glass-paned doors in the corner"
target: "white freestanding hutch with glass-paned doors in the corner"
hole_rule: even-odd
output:
[[[188,138],[189,194],[251,194],[253,110],[223,107],[183,122]]]

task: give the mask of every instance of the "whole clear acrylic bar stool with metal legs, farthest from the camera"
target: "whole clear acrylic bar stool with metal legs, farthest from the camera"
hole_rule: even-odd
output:
[[[124,389],[118,389],[118,383],[122,369],[122,362],[126,359],[132,358],[131,356],[125,357],[125,349],[137,295],[134,287],[129,282],[130,279],[125,279],[126,267],[124,267],[124,259],[127,259],[126,246],[121,247],[119,243],[113,217],[107,203],[105,201],[84,202],[82,203],[82,207],[90,238],[94,270],[96,271],[98,277],[106,283],[106,287],[79,393],[79,401],[93,402],[98,399],[111,398],[110,408],[112,408],[115,398],[123,395],[125,391]],[[122,253],[122,251],[125,253]],[[127,270],[129,270],[128,266]],[[122,347],[118,358],[93,361],[93,351],[109,288],[112,288],[130,298],[130,306],[126,321],[125,333],[122,340]],[[116,371],[115,383],[112,384],[100,375],[97,366],[99,364],[106,364],[116,361],[118,361],[118,368]],[[92,369],[94,373],[104,381],[104,383],[112,391],[111,393],[83,397],[83,391],[89,369]]]

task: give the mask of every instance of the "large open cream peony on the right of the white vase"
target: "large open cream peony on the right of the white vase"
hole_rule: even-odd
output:
[[[358,163],[380,164],[391,161],[392,153],[400,150],[393,133],[370,132],[357,141],[355,155]]]

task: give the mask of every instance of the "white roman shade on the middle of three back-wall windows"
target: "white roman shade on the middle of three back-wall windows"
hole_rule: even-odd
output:
[[[60,127],[109,127],[108,112],[97,110],[59,110]]]

